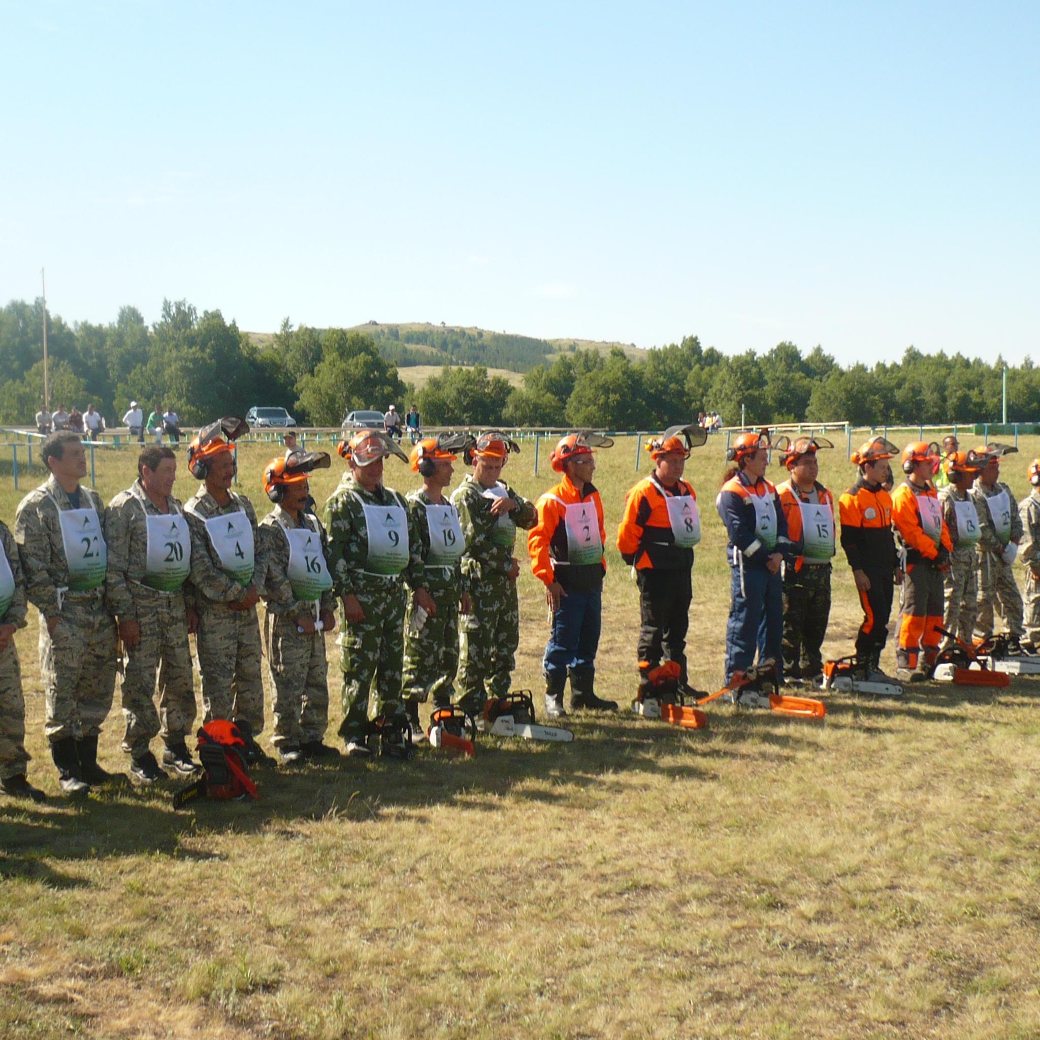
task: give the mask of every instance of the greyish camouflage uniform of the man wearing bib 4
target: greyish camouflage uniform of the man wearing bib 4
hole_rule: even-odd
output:
[[[260,675],[260,626],[255,606],[232,610],[250,589],[263,587],[264,563],[257,537],[257,515],[244,496],[230,492],[231,501],[217,505],[205,485],[184,506],[191,528],[191,586],[199,612],[196,650],[202,673],[205,721],[244,719],[254,734],[263,729],[263,679]],[[242,582],[224,569],[205,521],[243,511],[253,527],[253,575]]]

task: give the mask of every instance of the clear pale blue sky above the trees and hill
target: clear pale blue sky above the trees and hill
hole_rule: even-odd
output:
[[[0,0],[0,300],[1040,359],[1036,3]]]

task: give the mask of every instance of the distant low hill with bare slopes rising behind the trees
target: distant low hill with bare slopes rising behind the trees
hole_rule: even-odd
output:
[[[459,326],[436,326],[422,321],[385,324],[368,321],[352,331],[375,340],[380,353],[398,368],[414,366],[485,365],[510,372],[526,372],[536,365],[551,364],[562,354],[575,350],[608,353],[620,346],[629,358],[638,360],[646,350],[631,343],[604,343],[589,339],[538,339],[508,332],[491,332]],[[269,345],[272,333],[249,333],[258,346]],[[402,373],[402,379],[409,376]],[[414,381],[413,381],[414,382]]]

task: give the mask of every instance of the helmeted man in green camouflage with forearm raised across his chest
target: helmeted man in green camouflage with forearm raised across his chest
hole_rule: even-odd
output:
[[[519,450],[502,433],[482,434],[463,457],[473,472],[451,495],[466,539],[462,570],[472,601],[463,626],[459,703],[473,716],[483,712],[489,697],[510,692],[520,645],[520,564],[513,549],[517,527],[529,530],[538,514],[531,502],[499,479],[510,454]]]

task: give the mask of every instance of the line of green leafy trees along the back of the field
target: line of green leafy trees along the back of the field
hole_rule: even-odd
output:
[[[42,324],[40,300],[0,310],[0,422],[30,422],[42,402]],[[397,369],[402,358],[413,360],[412,348],[396,326],[374,327],[373,336],[294,328],[286,318],[258,347],[219,311],[199,314],[186,301],[164,301],[152,326],[124,307],[108,324],[68,324],[48,312],[47,329],[52,405],[93,402],[109,421],[136,399],[146,409],[172,406],[188,424],[280,405],[301,423],[338,425],[352,409],[413,401],[427,425],[654,430],[708,411],[736,424],[742,405],[750,425],[992,422],[1000,418],[1005,367],[999,357],[990,362],[910,347],[898,362],[843,368],[820,346],[803,354],[783,342],[761,354],[725,355],[702,347],[696,336],[639,361],[617,347],[550,358],[545,340],[410,330],[411,342],[425,337],[424,345],[457,362],[413,393]],[[489,376],[485,366],[493,363],[523,370],[523,386]],[[1029,359],[1009,368],[1008,420],[1040,421],[1040,369]]]

